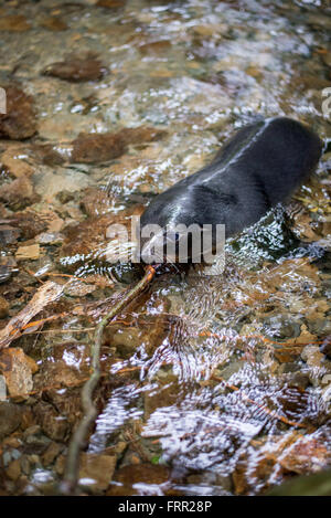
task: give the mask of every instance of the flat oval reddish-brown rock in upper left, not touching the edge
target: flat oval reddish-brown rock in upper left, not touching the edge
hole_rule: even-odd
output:
[[[72,56],[66,61],[53,63],[44,71],[44,74],[60,80],[83,82],[97,81],[106,72],[107,70],[103,66],[103,63],[90,55],[87,57]]]

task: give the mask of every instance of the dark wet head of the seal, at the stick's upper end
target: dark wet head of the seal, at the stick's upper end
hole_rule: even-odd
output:
[[[211,211],[220,200],[206,186],[192,186],[188,179],[156,197],[143,212],[140,244],[145,263],[210,263],[217,245],[223,246],[224,232],[216,229],[218,221]],[[220,226],[224,226],[222,219]]]

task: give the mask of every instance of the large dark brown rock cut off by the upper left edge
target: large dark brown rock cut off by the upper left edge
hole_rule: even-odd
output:
[[[15,85],[4,86],[7,114],[0,115],[0,137],[21,140],[36,133],[33,99]]]

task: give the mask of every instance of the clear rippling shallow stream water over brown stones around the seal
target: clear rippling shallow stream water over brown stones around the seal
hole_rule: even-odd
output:
[[[31,94],[38,125],[28,140],[1,140],[1,184],[23,170],[36,195],[3,202],[1,218],[20,216],[23,228],[3,262],[15,261],[22,243],[40,243],[38,258],[17,261],[1,295],[12,316],[39,287],[33,273],[65,285],[41,317],[65,315],[17,342],[39,372],[33,393],[18,403],[24,419],[4,437],[4,493],[44,494],[61,478],[93,328],[126,289],[118,279],[139,278],[105,261],[108,225],[140,213],[256,117],[291,116],[330,139],[321,94],[330,86],[325,7],[94,3],[9,2],[0,11],[1,82]],[[88,52],[108,71],[99,78],[43,75]],[[118,136],[141,126],[163,134],[140,133],[110,158],[75,152],[81,133]],[[96,468],[82,473],[85,491],[263,494],[330,465],[331,363],[319,351],[331,331],[328,149],[295,198],[228,243],[222,275],[157,277],[108,327],[99,416],[86,447]]]

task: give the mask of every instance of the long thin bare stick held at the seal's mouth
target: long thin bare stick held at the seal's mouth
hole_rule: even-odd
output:
[[[75,493],[78,480],[79,452],[85,444],[88,430],[97,416],[97,409],[93,402],[93,392],[100,378],[99,360],[104,329],[109,320],[115,318],[116,315],[121,311],[121,309],[124,309],[148,286],[148,284],[153,278],[154,273],[154,268],[152,266],[148,266],[146,275],[141,278],[141,281],[136,284],[134,288],[130,289],[126,296],[113,307],[113,309],[100,320],[96,327],[94,343],[90,347],[92,374],[82,390],[82,406],[84,414],[70,443],[64,478],[60,487],[62,494],[71,495]]]

